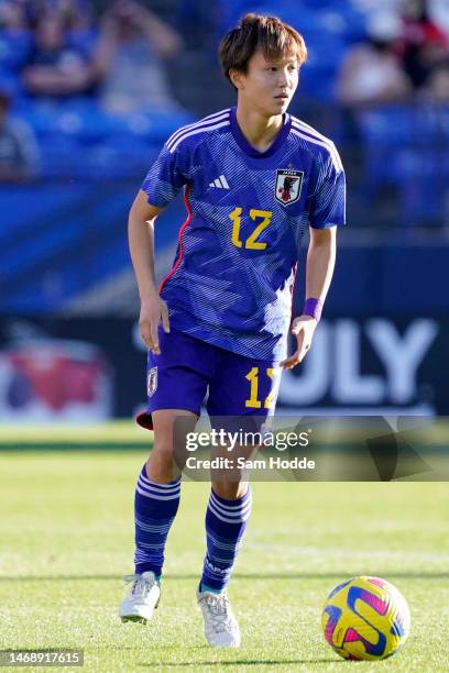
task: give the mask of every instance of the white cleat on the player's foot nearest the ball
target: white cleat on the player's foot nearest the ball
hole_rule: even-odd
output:
[[[205,636],[212,648],[239,648],[240,629],[226,593],[197,591],[205,620]]]

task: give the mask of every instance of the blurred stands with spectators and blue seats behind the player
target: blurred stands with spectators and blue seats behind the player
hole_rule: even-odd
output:
[[[305,35],[292,111],[341,147],[351,223],[443,229],[448,0],[0,0],[1,180],[140,176],[174,129],[233,102],[216,47],[247,11]]]

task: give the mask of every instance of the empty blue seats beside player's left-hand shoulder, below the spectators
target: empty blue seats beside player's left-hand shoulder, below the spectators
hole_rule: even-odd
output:
[[[127,118],[105,113],[95,101],[69,104],[21,99],[15,113],[33,129],[41,147],[41,176],[108,179],[149,166],[149,157],[193,117],[179,109]]]

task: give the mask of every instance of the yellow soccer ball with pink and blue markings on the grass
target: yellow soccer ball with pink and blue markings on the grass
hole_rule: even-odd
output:
[[[354,577],[330,592],[322,630],[331,648],[343,659],[376,661],[404,644],[410,628],[405,598],[380,577]]]

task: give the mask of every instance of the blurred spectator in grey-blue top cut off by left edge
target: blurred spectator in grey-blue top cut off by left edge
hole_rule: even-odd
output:
[[[31,179],[37,165],[37,147],[31,129],[11,120],[10,93],[0,88],[0,183]]]

